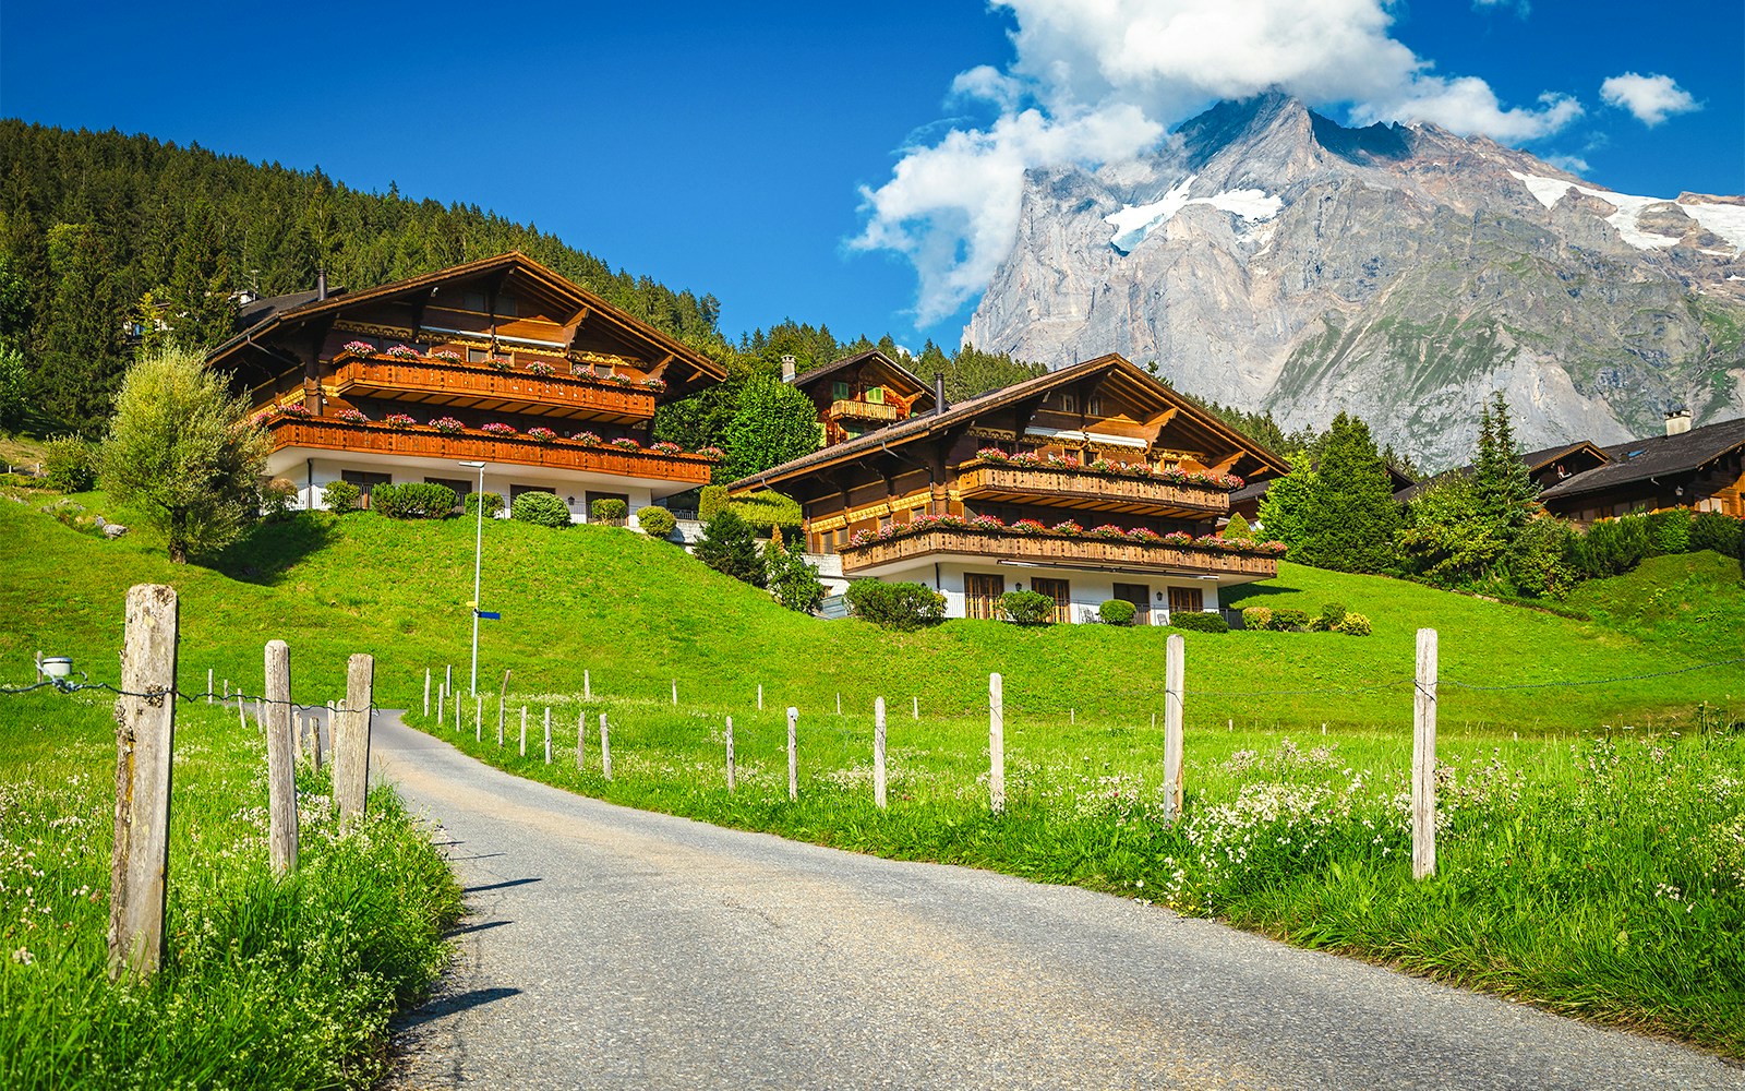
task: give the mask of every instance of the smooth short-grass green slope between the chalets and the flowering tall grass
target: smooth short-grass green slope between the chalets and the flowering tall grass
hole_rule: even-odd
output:
[[[1672,560],[1672,559],[1668,559]],[[473,527],[375,515],[300,515],[262,527],[220,569],[168,564],[147,536],[105,541],[17,503],[0,503],[0,677],[30,672],[35,649],[72,655],[113,679],[126,588],[169,581],[181,592],[181,677],[258,688],[262,646],[291,644],[298,695],[339,696],[346,656],[377,656],[382,703],[422,700],[426,667],[452,663],[464,691],[473,597]],[[1745,600],[1736,587],[1733,602]],[[1483,686],[1653,674],[1722,658],[1712,642],[1626,635],[1600,623],[1525,611],[1375,576],[1283,564],[1256,599],[1366,613],[1375,635],[1187,634],[1188,723],[1410,724],[1413,632],[1441,630],[1441,674]],[[780,609],[763,592],[708,571],[681,550],[609,527],[550,532],[487,525],[483,602],[503,613],[480,635],[480,690],[506,669],[511,691],[595,691],[686,705],[743,707],[764,684],[770,707],[824,709],[836,693],[862,705],[918,696],[930,716],[977,716],[988,672],[1005,674],[1012,716],[1092,716],[1136,723],[1162,707],[1160,628],[1017,628],[949,621],[888,634]],[[1733,649],[1736,655],[1738,649]],[[1338,693],[1387,683],[1384,690]],[[314,693],[311,693],[311,688]],[[1317,693],[1300,693],[1304,690]],[[1279,693],[1286,691],[1286,693]],[[1323,693],[1331,691],[1331,693]],[[1443,693],[1447,724],[1584,730],[1632,717],[1682,717],[1696,702],[1745,695],[1745,669],[1614,686]],[[1408,728],[1406,728],[1408,730]]]

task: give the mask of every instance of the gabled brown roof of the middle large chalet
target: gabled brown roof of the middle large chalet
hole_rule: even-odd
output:
[[[1260,463],[1267,464],[1276,473],[1290,471],[1290,463],[1283,457],[1272,454],[1260,443],[1255,443],[1248,436],[1237,433],[1223,421],[1218,421],[1206,410],[1199,408],[1194,401],[1183,398],[1176,391],[1169,389],[1143,368],[1134,367],[1124,356],[1110,353],[1106,356],[1098,356],[1096,360],[1085,360],[1084,363],[1075,363],[1073,367],[1061,368],[1057,372],[1049,372],[1045,375],[1037,375],[1035,379],[1024,379],[1023,382],[1014,382],[1012,386],[996,389],[988,395],[979,395],[967,401],[946,407],[944,412],[930,412],[920,417],[909,417],[907,421],[899,421],[888,428],[878,431],[869,431],[867,435],[848,440],[846,443],[836,443],[804,454],[797,459],[766,470],[763,473],[754,473],[750,477],[740,478],[728,485],[731,491],[770,487],[784,480],[804,477],[815,470],[836,463],[852,463],[857,457],[864,457],[869,452],[876,452],[886,447],[897,447],[902,443],[911,443],[925,436],[935,435],[939,431],[949,429],[956,424],[968,424],[975,417],[1005,408],[1030,396],[1052,391],[1061,386],[1071,386],[1080,382],[1094,372],[1120,374],[1129,382],[1136,382],[1157,396],[1159,401],[1166,401],[1174,408],[1180,408],[1183,415],[1190,417],[1201,428],[1218,435],[1232,447],[1251,452]]]

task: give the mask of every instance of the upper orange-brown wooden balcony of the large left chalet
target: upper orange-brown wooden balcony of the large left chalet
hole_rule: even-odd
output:
[[[356,356],[333,365],[323,388],[342,398],[391,398],[565,421],[635,424],[654,415],[654,391],[583,375],[499,372],[489,365]]]

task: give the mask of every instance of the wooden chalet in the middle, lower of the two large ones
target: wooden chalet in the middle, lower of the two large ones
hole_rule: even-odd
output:
[[[1002,594],[1035,590],[1057,621],[1126,599],[1139,623],[1164,623],[1277,574],[1276,550],[1213,529],[1239,475],[1286,470],[1112,354],[934,405],[731,489],[794,496],[808,552],[838,555],[850,580],[937,588],[953,618],[998,618]]]

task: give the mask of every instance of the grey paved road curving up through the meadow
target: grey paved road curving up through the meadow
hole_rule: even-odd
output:
[[[1745,1088],[1745,1068],[1071,887],[585,799],[394,717],[471,916],[400,1088]]]

